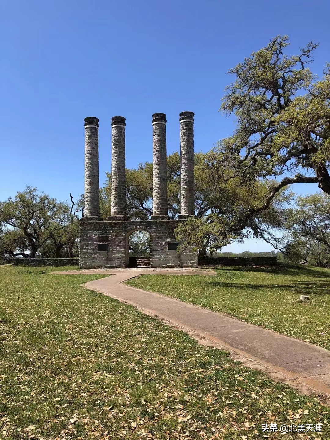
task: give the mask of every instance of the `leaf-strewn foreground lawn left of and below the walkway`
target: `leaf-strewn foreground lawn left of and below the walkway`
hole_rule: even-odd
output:
[[[323,423],[323,433],[285,439],[330,438],[329,407],[316,398],[80,286],[103,275],[51,270],[0,269],[0,439],[282,438],[262,433],[266,422]],[[183,292],[218,289],[208,283],[219,277],[159,282]]]

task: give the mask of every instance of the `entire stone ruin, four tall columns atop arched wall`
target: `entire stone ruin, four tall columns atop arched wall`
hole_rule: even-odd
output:
[[[125,185],[125,117],[112,118],[111,216],[99,217],[99,120],[85,118],[85,212],[81,219],[81,268],[124,268],[132,231],[150,234],[151,267],[197,267],[197,253],[178,253],[176,226],[194,215],[194,113],[180,113],[181,212],[169,220],[167,205],[166,115],[155,113],[153,127],[153,214],[151,220],[128,220]],[[97,189],[97,191],[96,191]]]

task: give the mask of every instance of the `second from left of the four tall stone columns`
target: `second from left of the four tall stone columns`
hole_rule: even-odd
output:
[[[114,116],[112,126],[111,216],[126,220],[125,117]]]

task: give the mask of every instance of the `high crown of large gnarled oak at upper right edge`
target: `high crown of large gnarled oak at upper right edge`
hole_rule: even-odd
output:
[[[236,80],[221,110],[235,113],[237,128],[219,142],[218,160],[247,180],[285,175],[273,183],[269,197],[282,183],[319,183],[329,193],[329,72],[317,81],[307,66],[317,44],[294,56],[284,53],[288,44],[288,37],[275,37],[229,71]]]

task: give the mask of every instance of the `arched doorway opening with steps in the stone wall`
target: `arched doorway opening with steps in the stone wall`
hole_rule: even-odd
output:
[[[128,232],[126,238],[126,266],[150,267],[150,234],[142,229]]]

